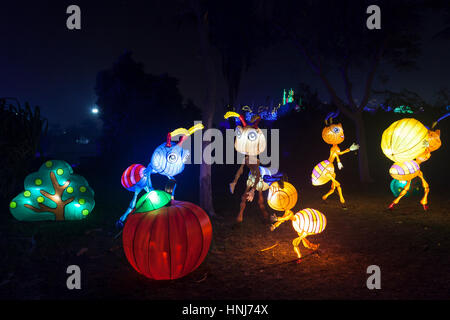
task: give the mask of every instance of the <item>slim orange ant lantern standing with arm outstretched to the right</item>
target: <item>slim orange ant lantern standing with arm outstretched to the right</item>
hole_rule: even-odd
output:
[[[341,201],[342,208],[347,209],[345,205],[345,199],[342,195],[341,184],[336,180],[336,173],[334,170],[333,162],[337,161],[338,169],[341,170],[344,166],[341,163],[341,159],[339,156],[346,154],[350,151],[355,151],[359,149],[359,145],[352,144],[350,148],[341,151],[339,149],[339,144],[344,141],[344,129],[342,128],[342,124],[333,124],[333,118],[337,117],[339,112],[328,114],[325,118],[325,128],[322,130],[322,139],[326,143],[331,145],[330,149],[330,157],[328,160],[323,160],[319,162],[313,169],[311,174],[311,182],[314,186],[320,186],[328,181],[331,181],[331,189],[322,196],[323,200],[326,200],[335,189],[338,190],[339,200]]]

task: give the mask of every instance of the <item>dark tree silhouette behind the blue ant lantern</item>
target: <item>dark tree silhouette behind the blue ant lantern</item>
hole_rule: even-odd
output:
[[[178,80],[168,75],[146,73],[131,52],[99,72],[95,92],[103,121],[102,153],[117,158],[147,152],[142,156],[150,161],[151,150],[167,132],[198,120],[200,110],[192,102],[183,104],[177,85]]]

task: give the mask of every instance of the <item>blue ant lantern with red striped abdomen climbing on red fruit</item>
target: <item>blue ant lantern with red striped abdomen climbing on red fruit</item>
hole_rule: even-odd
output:
[[[147,167],[141,164],[133,164],[129,166],[122,174],[122,186],[134,192],[133,199],[127,211],[116,222],[118,228],[123,228],[128,214],[136,207],[136,200],[142,190],[150,192],[153,190],[150,176],[152,174],[161,174],[169,178],[166,185],[166,191],[172,195],[175,194],[176,181],[174,176],[180,174],[184,170],[184,165],[189,157],[189,150],[183,148],[183,142],[194,132],[203,129],[203,124],[199,123],[189,129],[178,128],[167,134],[166,142],[158,146],[153,151],[152,158]],[[177,135],[182,135],[178,143],[172,143],[172,138]]]

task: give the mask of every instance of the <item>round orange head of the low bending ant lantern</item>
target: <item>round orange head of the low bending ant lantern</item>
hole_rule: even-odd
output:
[[[292,184],[286,181],[283,183],[276,181],[269,187],[267,203],[274,210],[287,211],[295,206],[297,198],[297,190]]]

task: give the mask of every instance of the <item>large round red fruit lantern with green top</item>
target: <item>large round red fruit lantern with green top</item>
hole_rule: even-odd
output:
[[[206,212],[152,190],[139,199],[123,229],[123,248],[133,268],[150,279],[173,280],[194,271],[212,239]]]

